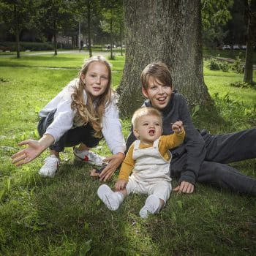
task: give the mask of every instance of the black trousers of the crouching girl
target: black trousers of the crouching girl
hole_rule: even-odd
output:
[[[53,110],[48,113],[48,116],[40,119],[37,127],[40,137],[44,135],[47,127],[53,122],[55,112],[56,110]],[[101,138],[94,137],[94,132],[95,131],[90,124],[86,124],[83,127],[69,129],[69,131],[65,132],[64,135],[62,135],[61,138],[49,148],[51,150],[61,152],[64,151],[65,147],[76,146],[80,143],[84,143],[89,148],[94,148],[98,145],[99,140],[101,140]]]

